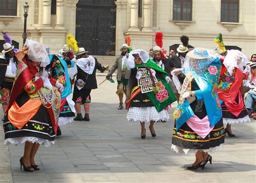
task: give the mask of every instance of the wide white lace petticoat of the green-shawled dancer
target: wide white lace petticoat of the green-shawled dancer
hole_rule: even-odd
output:
[[[127,114],[127,119],[129,121],[167,121],[169,118],[170,117],[167,110],[164,109],[158,112],[155,107],[130,107]]]

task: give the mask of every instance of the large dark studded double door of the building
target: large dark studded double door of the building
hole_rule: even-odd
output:
[[[116,4],[114,0],[79,0],[76,40],[91,55],[115,55]]]

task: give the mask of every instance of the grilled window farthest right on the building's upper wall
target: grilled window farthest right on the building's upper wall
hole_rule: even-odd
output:
[[[221,0],[221,22],[238,23],[239,0]]]

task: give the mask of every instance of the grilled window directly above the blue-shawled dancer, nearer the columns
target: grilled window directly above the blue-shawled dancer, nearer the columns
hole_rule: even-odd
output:
[[[192,0],[173,0],[172,20],[191,21]]]

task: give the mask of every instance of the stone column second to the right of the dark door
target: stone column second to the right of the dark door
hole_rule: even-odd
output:
[[[143,3],[143,29],[142,31],[152,31],[151,27],[151,0],[144,0]]]

